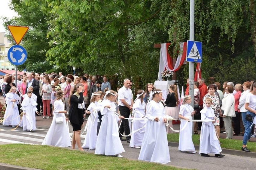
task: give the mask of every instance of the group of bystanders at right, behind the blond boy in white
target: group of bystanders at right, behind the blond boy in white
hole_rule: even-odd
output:
[[[197,90],[197,84],[199,84]],[[217,137],[220,136],[221,129],[226,133],[226,139],[232,139],[233,136],[239,136],[241,133],[241,123],[244,127],[242,151],[249,152],[246,147],[247,141],[250,138],[256,137],[256,82],[246,81],[243,84],[233,84],[233,82],[224,82],[223,91],[221,91],[221,84],[215,82],[206,86],[204,79],[198,79],[194,82],[194,110],[196,111],[194,118],[202,119],[201,110],[205,107],[206,99],[212,100],[211,108],[214,110],[216,121],[214,122]],[[185,94],[188,95],[189,86]],[[197,108],[199,98],[199,109]],[[196,116],[199,115],[199,116]],[[248,116],[250,115],[250,116]],[[249,117],[250,119],[246,118]],[[254,126],[253,126],[254,124]],[[196,124],[195,124],[196,125]],[[194,127],[194,134],[198,134],[197,130],[201,130],[202,123]],[[219,141],[219,144],[222,143]]]

